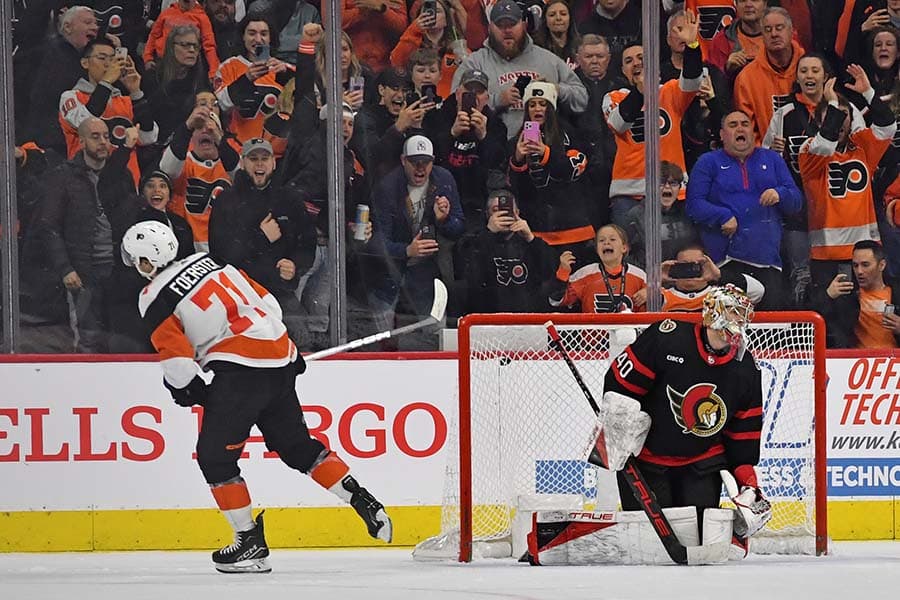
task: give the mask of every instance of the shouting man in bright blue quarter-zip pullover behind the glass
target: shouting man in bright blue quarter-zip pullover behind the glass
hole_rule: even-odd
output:
[[[781,220],[802,207],[800,190],[780,154],[756,147],[750,117],[722,119],[722,149],[702,155],[691,171],[687,214],[723,275],[763,283],[757,310],[787,306],[781,274]]]

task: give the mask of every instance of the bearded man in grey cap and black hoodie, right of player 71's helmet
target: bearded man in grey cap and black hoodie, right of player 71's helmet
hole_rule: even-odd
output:
[[[269,142],[244,142],[234,186],[216,198],[210,213],[209,253],[243,269],[275,296],[291,339],[300,345],[303,317],[294,291],[313,264],[316,228],[305,197],[274,185],[274,171]]]

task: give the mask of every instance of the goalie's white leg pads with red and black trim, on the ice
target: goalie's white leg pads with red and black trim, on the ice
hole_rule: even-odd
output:
[[[682,544],[699,545],[693,506],[663,512]],[[672,564],[643,511],[535,513],[528,550],[540,565]]]

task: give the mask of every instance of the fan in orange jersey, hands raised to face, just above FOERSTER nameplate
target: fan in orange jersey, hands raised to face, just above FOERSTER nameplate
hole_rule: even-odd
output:
[[[212,203],[231,187],[231,174],[240,158],[219,125],[218,107],[211,92],[197,94],[194,111],[175,129],[159,168],[172,178],[170,210],[191,226],[197,250],[209,249]]]

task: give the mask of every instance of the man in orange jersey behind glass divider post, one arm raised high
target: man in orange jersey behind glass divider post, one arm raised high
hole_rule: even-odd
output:
[[[697,91],[703,73],[699,23],[691,12],[673,25],[672,35],[683,41],[684,67],[681,77],[659,87],[660,155],[685,171],[681,120]],[[626,213],[646,195],[644,172],[644,51],[630,46],[622,53],[622,73],[634,87],[614,90],[603,99],[603,112],[616,136],[616,158],[609,187],[610,219],[627,226]],[[652,88],[651,88],[652,89]]]

